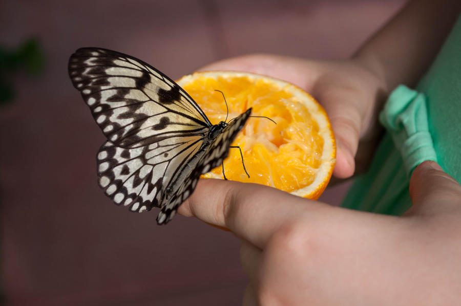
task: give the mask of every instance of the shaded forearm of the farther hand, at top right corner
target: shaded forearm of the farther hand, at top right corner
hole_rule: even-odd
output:
[[[389,93],[415,85],[428,69],[461,11],[459,0],[412,0],[353,56],[378,75]]]

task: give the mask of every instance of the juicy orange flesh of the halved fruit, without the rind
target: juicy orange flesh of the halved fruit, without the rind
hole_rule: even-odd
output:
[[[237,117],[249,107],[252,116],[232,145],[240,146],[249,178],[242,165],[239,149],[231,148],[224,160],[229,180],[258,183],[284,191],[294,191],[312,183],[321,164],[323,138],[312,121],[307,107],[266,80],[243,77],[198,77],[183,85],[184,90],[200,105],[212,124]],[[222,168],[212,170],[222,178]],[[212,177],[209,173],[205,178]]]

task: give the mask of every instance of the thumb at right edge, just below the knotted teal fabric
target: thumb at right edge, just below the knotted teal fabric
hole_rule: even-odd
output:
[[[409,214],[447,212],[461,205],[461,186],[433,161],[416,167],[409,191],[413,202]]]

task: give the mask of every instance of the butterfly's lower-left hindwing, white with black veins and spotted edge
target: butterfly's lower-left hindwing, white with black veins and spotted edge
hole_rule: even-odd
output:
[[[97,154],[99,186],[117,205],[142,212],[160,207],[165,188],[197,154],[197,137],[173,137],[149,146],[122,148],[106,142]]]

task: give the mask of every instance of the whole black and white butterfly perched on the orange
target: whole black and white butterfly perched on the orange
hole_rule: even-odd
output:
[[[222,163],[251,113],[213,125],[169,77],[107,49],[78,49],[69,75],[107,138],[96,156],[99,186],[131,211],[160,207],[158,224]]]

